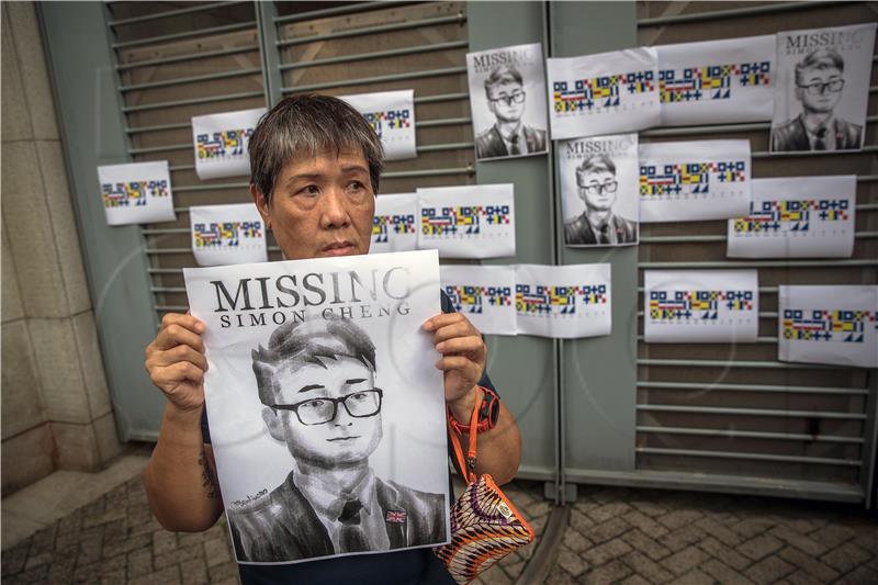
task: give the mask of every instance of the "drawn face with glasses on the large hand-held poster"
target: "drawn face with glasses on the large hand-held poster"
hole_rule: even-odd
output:
[[[348,398],[356,412],[353,401],[364,400],[362,391],[373,390],[374,371],[353,358],[324,359],[326,368],[307,363],[301,368],[281,368],[275,373],[279,383],[277,404],[300,406],[300,415],[307,419],[303,408],[312,408],[318,398]],[[292,410],[262,409],[262,419],[271,436],[286,443],[297,461],[322,468],[344,468],[367,459],[381,441],[381,412],[373,416],[353,417],[345,404],[336,405],[336,416],[323,424],[304,425]]]

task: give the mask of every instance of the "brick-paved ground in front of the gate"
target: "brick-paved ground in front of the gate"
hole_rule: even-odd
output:
[[[507,493],[541,532],[542,485]],[[479,580],[514,583],[533,553]],[[3,584],[237,583],[225,525],[162,530],[134,479],[3,551]],[[579,488],[547,583],[878,583],[878,522],[856,507],[627,488]]]

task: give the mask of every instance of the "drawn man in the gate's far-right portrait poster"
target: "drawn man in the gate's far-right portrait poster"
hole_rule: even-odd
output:
[[[772,151],[851,150],[860,147],[863,126],[834,114],[844,90],[844,59],[830,47],[796,64],[796,99],[802,112],[772,128]]]

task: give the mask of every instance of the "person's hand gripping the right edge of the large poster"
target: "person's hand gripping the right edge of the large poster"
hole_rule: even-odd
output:
[[[442,359],[436,368],[444,373],[446,402],[455,412],[458,403],[472,408],[471,391],[482,379],[487,348],[482,334],[460,313],[443,313],[424,322],[424,330],[432,333],[432,342]]]

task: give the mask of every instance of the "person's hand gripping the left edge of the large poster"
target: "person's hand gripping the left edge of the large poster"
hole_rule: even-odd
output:
[[[204,324],[192,315],[167,313],[161,329],[146,346],[146,371],[168,400],[183,410],[204,404],[207,359],[201,334]]]

